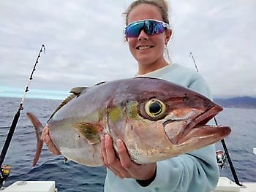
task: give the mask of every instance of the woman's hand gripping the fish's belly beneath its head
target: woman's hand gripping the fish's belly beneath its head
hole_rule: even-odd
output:
[[[119,158],[113,150],[111,137],[108,134],[102,137],[102,160],[108,169],[121,179],[154,180],[157,164],[135,164],[130,160],[124,142],[118,139],[116,143]]]

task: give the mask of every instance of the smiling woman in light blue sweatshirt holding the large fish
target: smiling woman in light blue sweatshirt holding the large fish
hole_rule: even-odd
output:
[[[157,77],[191,88],[205,96],[211,92],[196,72],[167,63],[165,46],[172,31],[164,0],[138,0],[126,12],[125,36],[138,61],[138,76]],[[59,154],[45,128],[43,139],[49,150]],[[154,164],[130,161],[127,149],[117,141],[118,158],[109,135],[102,137],[102,160],[107,169],[105,191],[212,191],[219,178],[214,145]]]

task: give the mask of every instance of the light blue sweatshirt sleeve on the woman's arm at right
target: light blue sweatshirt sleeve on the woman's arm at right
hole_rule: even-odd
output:
[[[211,91],[199,74],[189,88],[212,99]],[[157,175],[148,191],[212,191],[219,180],[219,168],[214,145],[176,158],[157,162]],[[141,186],[140,186],[141,187]],[[141,187],[142,188],[142,187]]]

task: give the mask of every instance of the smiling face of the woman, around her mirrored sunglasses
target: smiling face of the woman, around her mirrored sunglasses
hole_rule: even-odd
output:
[[[162,20],[162,15],[159,9],[152,4],[139,4],[129,12],[127,22],[129,24],[136,20],[146,19]],[[169,32],[171,33],[171,31]],[[143,30],[138,37],[127,38],[129,50],[138,61],[139,71],[140,68],[147,68],[148,72],[153,71],[155,69],[150,68],[158,69],[163,62],[165,63],[163,53],[167,40],[166,32],[148,35]]]

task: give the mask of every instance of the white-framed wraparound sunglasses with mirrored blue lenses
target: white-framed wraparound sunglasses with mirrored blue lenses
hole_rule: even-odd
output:
[[[169,24],[160,20],[137,20],[124,28],[124,34],[126,38],[138,37],[141,30],[148,35],[162,34],[167,28]]]

